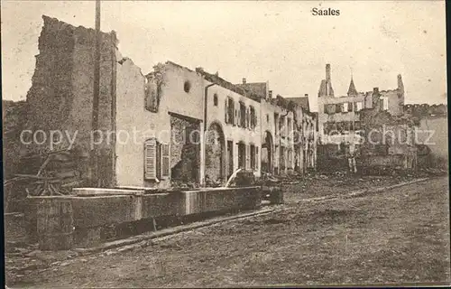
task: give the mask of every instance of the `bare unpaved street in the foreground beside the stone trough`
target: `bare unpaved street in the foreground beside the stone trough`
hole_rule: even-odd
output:
[[[149,247],[78,256],[14,287],[449,282],[448,179],[199,228]],[[303,199],[299,197],[300,199]],[[31,285],[32,284],[32,285]]]

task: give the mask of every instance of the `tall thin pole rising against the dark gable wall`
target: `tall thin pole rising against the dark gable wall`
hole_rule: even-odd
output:
[[[94,53],[94,96],[92,99],[92,134],[91,144],[94,144],[91,151],[91,161],[92,161],[92,185],[97,187],[99,184],[98,180],[98,148],[97,148],[97,130],[98,130],[98,100],[100,92],[100,0],[96,0],[96,46]]]

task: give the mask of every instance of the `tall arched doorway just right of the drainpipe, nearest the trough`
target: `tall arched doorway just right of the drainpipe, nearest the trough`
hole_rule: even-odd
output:
[[[226,181],[226,137],[221,125],[212,123],[205,140],[206,185],[221,184]]]

